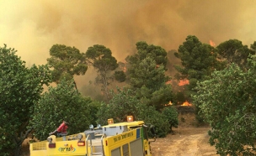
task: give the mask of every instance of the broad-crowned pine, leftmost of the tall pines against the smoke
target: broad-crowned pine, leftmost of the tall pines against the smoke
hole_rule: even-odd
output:
[[[52,78],[56,83],[59,83],[62,78],[72,80],[74,75],[84,75],[88,69],[83,53],[75,47],[54,44],[50,49],[50,55],[51,58],[47,61],[53,68]],[[75,87],[77,89],[76,83]]]

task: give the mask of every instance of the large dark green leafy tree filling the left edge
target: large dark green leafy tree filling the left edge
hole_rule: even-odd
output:
[[[50,70],[45,65],[31,68],[16,55],[16,50],[0,47],[0,150],[2,155],[19,155],[30,113],[40,99],[43,85],[50,82]]]

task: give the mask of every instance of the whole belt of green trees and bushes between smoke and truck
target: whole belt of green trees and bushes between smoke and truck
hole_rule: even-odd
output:
[[[187,36],[178,49],[136,43],[118,62],[111,49],[94,44],[85,52],[52,45],[45,65],[26,65],[16,50],[0,47],[0,150],[19,155],[29,133],[45,140],[63,121],[68,133],[88,125],[123,122],[127,115],[156,127],[158,137],[178,127],[175,106],[189,102],[198,125],[208,123],[210,143],[221,155],[253,155],[256,139],[256,42],[230,39],[212,46]],[[78,90],[74,76],[95,72],[98,90]],[[45,91],[45,86],[47,90]],[[95,92],[97,91],[97,92]],[[254,101],[255,100],[255,101]]]

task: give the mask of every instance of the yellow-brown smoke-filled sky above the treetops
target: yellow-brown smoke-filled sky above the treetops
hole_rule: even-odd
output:
[[[234,0],[0,0],[0,46],[42,65],[53,44],[86,52],[93,44],[125,60],[136,42],[178,49],[188,35],[220,44],[256,40],[256,1]]]

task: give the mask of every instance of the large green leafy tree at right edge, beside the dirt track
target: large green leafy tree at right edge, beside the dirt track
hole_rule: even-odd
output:
[[[237,65],[216,71],[196,87],[194,103],[212,127],[210,143],[221,155],[254,155],[256,139],[256,58],[247,71]],[[253,148],[252,148],[253,147]]]

